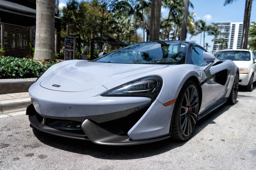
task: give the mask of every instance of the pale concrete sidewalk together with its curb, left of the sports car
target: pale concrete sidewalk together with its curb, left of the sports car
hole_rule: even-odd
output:
[[[0,118],[25,114],[30,103],[28,92],[0,94]]]

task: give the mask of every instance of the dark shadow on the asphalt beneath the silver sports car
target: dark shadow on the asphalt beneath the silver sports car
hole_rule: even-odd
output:
[[[238,101],[237,101],[238,102]],[[225,111],[229,110],[232,105],[224,104],[204,118],[200,119],[195,127],[193,136],[196,136],[207,125],[215,124],[214,119],[220,116]],[[177,142],[171,138],[153,142],[149,144],[131,145],[131,146],[104,146],[94,144],[90,141],[83,141],[79,139],[69,139],[60,136],[51,135],[41,132],[33,127],[35,137],[44,144],[50,147],[55,147],[60,150],[68,152],[90,155],[99,159],[138,159],[150,156],[155,156],[165,153],[177,147],[182,147],[186,142]],[[214,132],[212,132],[214,133]]]

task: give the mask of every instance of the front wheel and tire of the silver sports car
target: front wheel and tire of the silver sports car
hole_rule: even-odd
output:
[[[172,118],[171,136],[186,141],[194,132],[198,120],[199,91],[194,81],[187,81],[177,97]]]

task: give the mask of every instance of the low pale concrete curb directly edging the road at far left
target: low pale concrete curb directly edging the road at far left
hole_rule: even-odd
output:
[[[25,111],[26,107],[31,103],[30,98],[11,99],[0,101],[0,114]]]

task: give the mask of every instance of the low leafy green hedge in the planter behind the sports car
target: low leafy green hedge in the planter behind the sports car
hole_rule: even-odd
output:
[[[50,60],[45,64],[41,64],[32,59],[2,56],[0,57],[0,79],[39,77],[42,72],[55,63]]]

